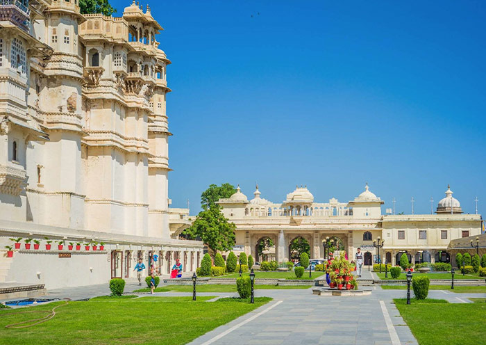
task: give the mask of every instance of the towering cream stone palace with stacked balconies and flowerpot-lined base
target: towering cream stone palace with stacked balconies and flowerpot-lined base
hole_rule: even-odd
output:
[[[0,283],[106,283],[138,258],[158,273],[199,266],[203,243],[177,239],[189,210],[169,207],[162,30],[135,1],[121,17],[0,3]]]

